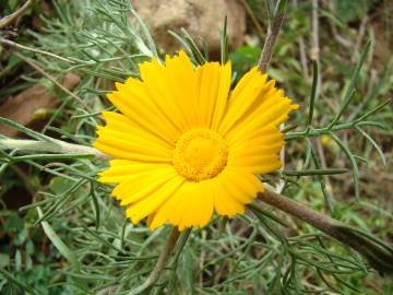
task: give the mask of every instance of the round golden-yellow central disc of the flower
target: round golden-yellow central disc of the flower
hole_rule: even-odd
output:
[[[227,157],[228,146],[219,134],[209,129],[191,129],[176,142],[172,164],[181,176],[200,181],[218,175]]]

